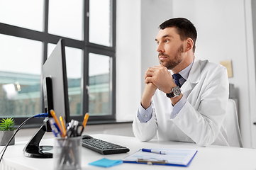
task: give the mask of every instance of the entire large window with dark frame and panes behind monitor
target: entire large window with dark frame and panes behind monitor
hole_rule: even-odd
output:
[[[41,69],[60,38],[72,118],[115,120],[116,0],[0,1],[0,118],[44,111]]]

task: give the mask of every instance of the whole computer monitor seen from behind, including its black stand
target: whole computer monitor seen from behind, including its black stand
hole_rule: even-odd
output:
[[[45,112],[52,118],[53,109],[57,118],[62,116],[65,123],[69,123],[69,98],[67,92],[67,69],[65,57],[65,40],[60,39],[48,60],[43,64],[43,98]],[[48,118],[30,139],[23,152],[26,157],[51,158],[52,146],[40,146],[40,140],[45,132],[51,132]]]

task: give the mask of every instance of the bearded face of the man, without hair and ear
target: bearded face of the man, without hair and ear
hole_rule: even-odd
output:
[[[160,64],[167,67],[167,69],[177,67],[184,60],[184,42],[177,34],[176,28],[171,27],[160,30],[155,40],[158,44],[157,52]]]

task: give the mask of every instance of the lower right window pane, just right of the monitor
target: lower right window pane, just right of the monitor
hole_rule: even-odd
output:
[[[111,57],[89,53],[89,113],[111,112]]]

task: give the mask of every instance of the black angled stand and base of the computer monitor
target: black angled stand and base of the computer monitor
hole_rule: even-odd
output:
[[[52,158],[52,146],[40,146],[39,143],[45,135],[46,126],[42,125],[38,132],[30,139],[26,147],[23,149],[23,153],[26,157],[33,158]]]

